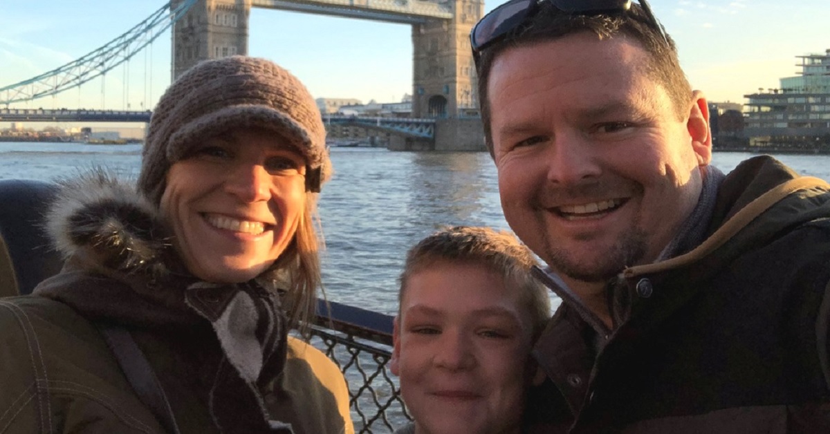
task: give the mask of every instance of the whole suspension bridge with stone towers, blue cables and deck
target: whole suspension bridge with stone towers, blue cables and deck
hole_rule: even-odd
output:
[[[171,26],[173,77],[199,61],[247,55],[248,18],[252,7],[411,26],[412,116],[417,119],[330,121],[352,122],[393,133],[390,149],[485,149],[469,42],[471,28],[483,12],[483,0],[171,0],[144,22],[78,60],[15,85],[0,87],[0,105],[15,110],[9,105],[84,85],[128,61]],[[88,111],[95,112],[7,111],[0,114],[0,120],[89,120]],[[107,110],[98,111],[91,114],[93,119],[122,121],[125,117],[144,119],[149,115],[144,111],[123,111],[119,115]]]

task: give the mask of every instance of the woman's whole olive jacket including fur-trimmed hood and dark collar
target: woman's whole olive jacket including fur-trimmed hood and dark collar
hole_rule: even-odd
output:
[[[342,373],[288,336],[274,280],[177,273],[158,217],[130,188],[104,176],[70,187],[49,217],[64,270],[0,299],[0,434],[166,432],[102,326],[129,332],[178,432],[354,432]]]

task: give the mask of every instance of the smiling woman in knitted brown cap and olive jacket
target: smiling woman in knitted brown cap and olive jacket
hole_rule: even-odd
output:
[[[48,221],[64,270],[0,300],[0,433],[354,432],[342,374],[287,336],[315,307],[330,173],[287,71],[232,56],[186,72],[137,188],[63,183]]]

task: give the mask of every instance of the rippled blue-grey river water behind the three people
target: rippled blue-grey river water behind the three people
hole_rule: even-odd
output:
[[[715,153],[714,164],[729,172],[753,155]],[[798,173],[830,180],[830,156],[778,158]],[[48,181],[95,165],[135,177],[140,159],[140,145],[0,143],[0,179]],[[334,148],[331,159],[334,177],[320,195],[330,300],[391,314],[413,243],[444,225],[509,229],[489,154]]]

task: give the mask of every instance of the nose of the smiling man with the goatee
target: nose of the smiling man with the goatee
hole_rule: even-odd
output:
[[[551,183],[574,184],[598,178],[602,170],[596,159],[597,146],[579,132],[557,134],[545,156]]]

